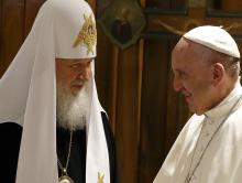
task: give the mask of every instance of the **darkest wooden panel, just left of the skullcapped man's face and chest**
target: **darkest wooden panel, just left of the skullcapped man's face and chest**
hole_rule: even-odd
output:
[[[142,87],[140,182],[152,182],[164,160],[166,133],[168,42],[145,42]]]

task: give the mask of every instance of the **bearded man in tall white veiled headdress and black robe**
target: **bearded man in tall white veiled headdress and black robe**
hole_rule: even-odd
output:
[[[0,80],[0,182],[117,182],[114,140],[95,84],[96,41],[86,1],[43,4]]]

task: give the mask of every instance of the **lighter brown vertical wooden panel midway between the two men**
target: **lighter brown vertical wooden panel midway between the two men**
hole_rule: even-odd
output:
[[[122,183],[138,182],[139,122],[139,46],[120,52],[116,138]]]

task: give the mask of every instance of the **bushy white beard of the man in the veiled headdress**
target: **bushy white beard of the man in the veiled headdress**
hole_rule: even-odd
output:
[[[86,128],[87,115],[89,114],[89,83],[85,83],[77,96],[65,92],[62,85],[57,85],[56,118],[58,127],[69,130]]]

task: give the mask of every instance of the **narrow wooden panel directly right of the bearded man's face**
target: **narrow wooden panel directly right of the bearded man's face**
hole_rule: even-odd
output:
[[[98,49],[96,58],[96,82],[100,103],[109,115],[112,131],[116,129],[116,101],[118,77],[117,49],[103,35],[98,26]]]

